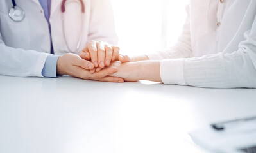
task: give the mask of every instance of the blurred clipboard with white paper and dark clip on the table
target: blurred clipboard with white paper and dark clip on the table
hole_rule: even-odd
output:
[[[189,136],[196,145],[212,152],[256,153],[256,117],[210,124]]]

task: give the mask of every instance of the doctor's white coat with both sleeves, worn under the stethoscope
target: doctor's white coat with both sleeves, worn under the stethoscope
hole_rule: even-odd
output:
[[[81,34],[81,45],[76,53],[91,40],[107,41],[114,45],[117,43],[110,0],[83,0],[84,16],[81,15],[80,3],[67,1],[64,22],[61,3],[62,0],[51,2],[49,20],[55,54],[69,52],[63,27],[67,43],[73,48],[71,50],[76,47]],[[49,27],[44,10],[38,0],[16,0],[16,4],[25,12],[22,22],[14,22],[9,17],[11,0],[0,1],[0,75],[42,77],[42,68],[51,52]]]

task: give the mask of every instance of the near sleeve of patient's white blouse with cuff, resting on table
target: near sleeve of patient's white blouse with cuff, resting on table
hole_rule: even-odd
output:
[[[181,85],[196,87],[256,88],[256,17],[252,29],[244,33],[244,38],[239,43],[239,49],[232,53],[224,50],[203,57],[161,61],[163,82],[182,82]]]

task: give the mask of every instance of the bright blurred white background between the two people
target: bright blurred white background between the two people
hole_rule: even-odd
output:
[[[171,47],[185,23],[187,0],[112,0],[122,54],[140,55]]]

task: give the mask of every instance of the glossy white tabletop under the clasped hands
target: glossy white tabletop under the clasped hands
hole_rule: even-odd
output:
[[[185,133],[255,108],[256,89],[0,76],[0,152],[200,152]]]

